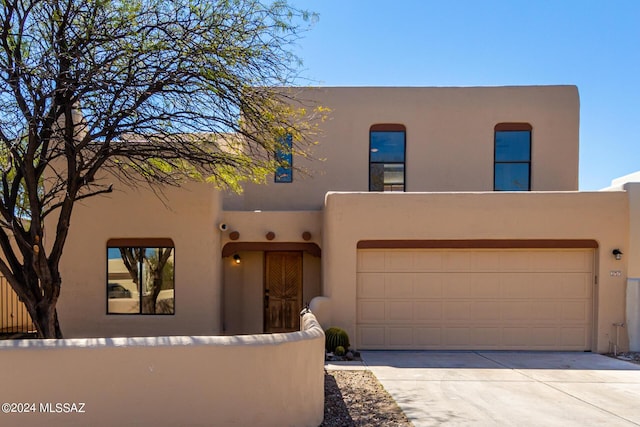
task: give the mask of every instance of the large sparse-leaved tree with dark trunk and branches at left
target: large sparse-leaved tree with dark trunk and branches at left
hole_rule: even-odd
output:
[[[62,337],[75,202],[113,185],[238,189],[304,155],[315,107],[283,90],[312,16],[286,1],[0,0],[0,273]],[[46,241],[44,228],[47,224]]]

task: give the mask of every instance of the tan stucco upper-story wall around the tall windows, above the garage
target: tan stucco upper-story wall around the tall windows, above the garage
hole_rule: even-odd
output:
[[[331,109],[293,182],[249,184],[225,197],[226,210],[319,209],[328,191],[368,191],[369,129],[406,127],[407,191],[492,191],[494,126],[533,126],[534,191],[578,189],[579,96],[575,86],[296,88],[303,102]]]

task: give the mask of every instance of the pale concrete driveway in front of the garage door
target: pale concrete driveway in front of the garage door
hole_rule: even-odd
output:
[[[640,365],[593,353],[363,351],[416,427],[639,426]]]

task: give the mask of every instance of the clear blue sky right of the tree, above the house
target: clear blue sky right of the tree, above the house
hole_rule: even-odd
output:
[[[640,1],[293,0],[308,84],[575,84],[580,189],[640,170]]]

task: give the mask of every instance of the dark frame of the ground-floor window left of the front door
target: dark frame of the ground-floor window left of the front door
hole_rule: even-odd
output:
[[[139,291],[139,295],[138,295],[138,312],[137,313],[126,313],[126,312],[122,312],[122,313],[118,313],[118,312],[110,312],[109,311],[109,285],[110,285],[110,281],[109,281],[109,249],[119,249],[119,248],[135,248],[135,249],[155,249],[155,248],[162,248],[162,249],[172,249],[172,253],[170,255],[171,259],[173,260],[173,311],[171,313],[146,313],[144,312],[144,307],[143,307],[143,293],[141,291]],[[107,240],[107,245],[106,245],[106,286],[105,286],[105,301],[106,301],[106,307],[105,307],[105,311],[106,314],[108,316],[175,316],[176,314],[176,294],[175,294],[175,290],[176,290],[176,263],[175,263],[175,258],[176,256],[176,248],[175,248],[175,244],[173,243],[173,240],[170,238],[118,238],[118,239],[109,239]],[[140,275],[142,276],[142,270],[140,271]],[[116,282],[114,282],[116,283]],[[140,285],[141,288],[141,285]],[[157,304],[157,301],[156,301]]]

